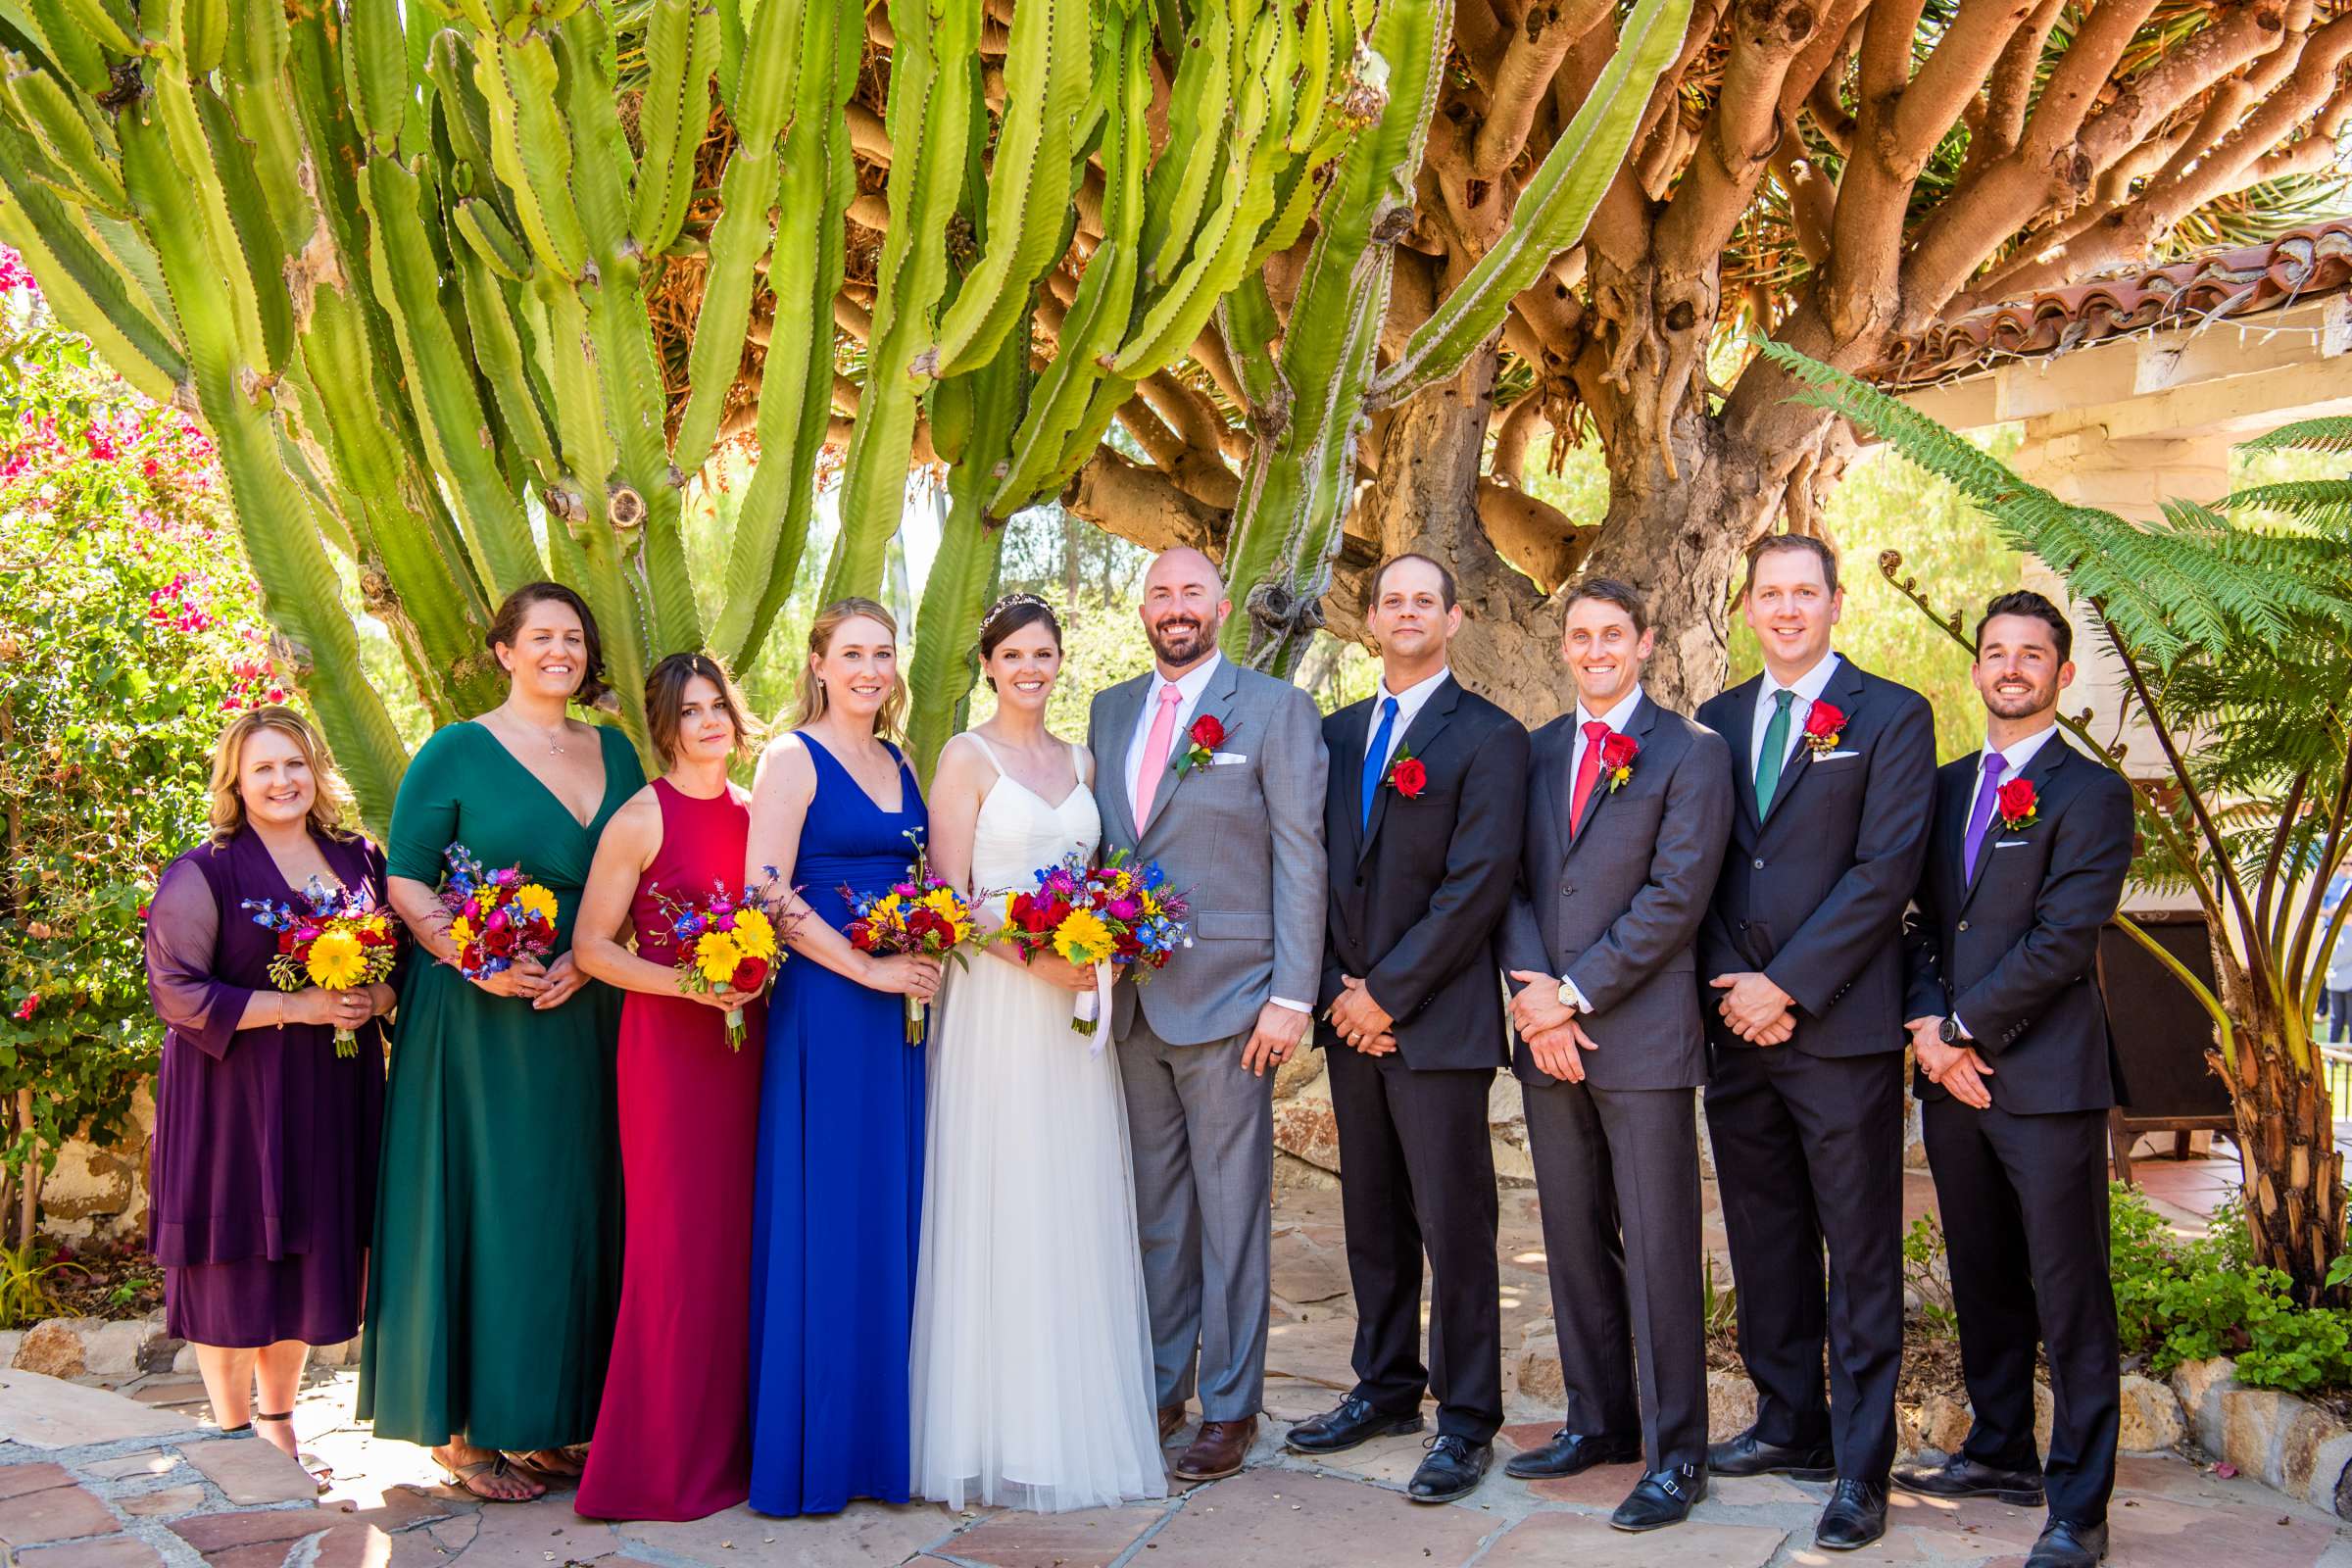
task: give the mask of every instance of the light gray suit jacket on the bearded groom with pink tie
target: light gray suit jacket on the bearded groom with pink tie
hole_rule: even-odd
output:
[[[1192,710],[1225,726],[1218,752],[1242,762],[1169,771],[1152,816],[1136,823],[1127,790],[1127,745],[1157,675],[1098,691],[1087,715],[1094,804],[1103,849],[1157,860],[1192,903],[1192,945],[1145,985],[1120,983],[1112,1027],[1124,1037],[1136,1006],[1171,1046],[1204,1046],[1247,1034],[1268,997],[1308,1006],[1322,980],[1324,842],[1329,766],[1322,717],[1305,691],[1230,658],[1209,677]],[[1185,752],[1178,733],[1169,762]]]

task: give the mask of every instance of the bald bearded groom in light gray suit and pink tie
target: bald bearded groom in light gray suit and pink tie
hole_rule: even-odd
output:
[[[1312,1020],[1324,938],[1324,743],[1308,693],[1216,651],[1232,614],[1200,550],[1143,576],[1155,670],[1087,717],[1103,846],[1157,860],[1192,945],[1112,1001],[1160,1441],[1200,1389],[1183,1481],[1242,1469],[1265,1394],[1272,1070]]]

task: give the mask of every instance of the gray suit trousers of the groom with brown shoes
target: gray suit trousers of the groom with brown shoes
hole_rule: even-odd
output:
[[[1160,1406],[1197,1387],[1202,1420],[1265,1396],[1275,1074],[1242,1067],[1244,1039],[1171,1046],[1141,1009],[1120,1037]]]

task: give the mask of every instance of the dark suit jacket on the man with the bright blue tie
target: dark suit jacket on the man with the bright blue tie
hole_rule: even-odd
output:
[[[1414,799],[1383,783],[1364,827],[1374,708],[1364,698],[1324,719],[1331,910],[1315,1039],[1348,1048],[1324,1013],[1338,1001],[1341,976],[1355,976],[1395,1018],[1406,1067],[1491,1072],[1505,1065],[1510,1039],[1496,929],[1519,872],[1526,729],[1449,675],[1395,750],[1418,757],[1428,783]]]

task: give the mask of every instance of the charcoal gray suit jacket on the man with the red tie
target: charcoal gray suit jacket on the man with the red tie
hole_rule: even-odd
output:
[[[1597,1046],[1585,1058],[1595,1088],[1698,1088],[1708,1051],[1696,938],[1731,837],[1731,748],[1649,696],[1625,733],[1642,748],[1632,778],[1616,790],[1599,778],[1571,839],[1576,710],[1536,731],[1503,966],[1576,980],[1592,1004],[1581,1023]],[[1555,1081],[1526,1044],[1512,1070]]]

